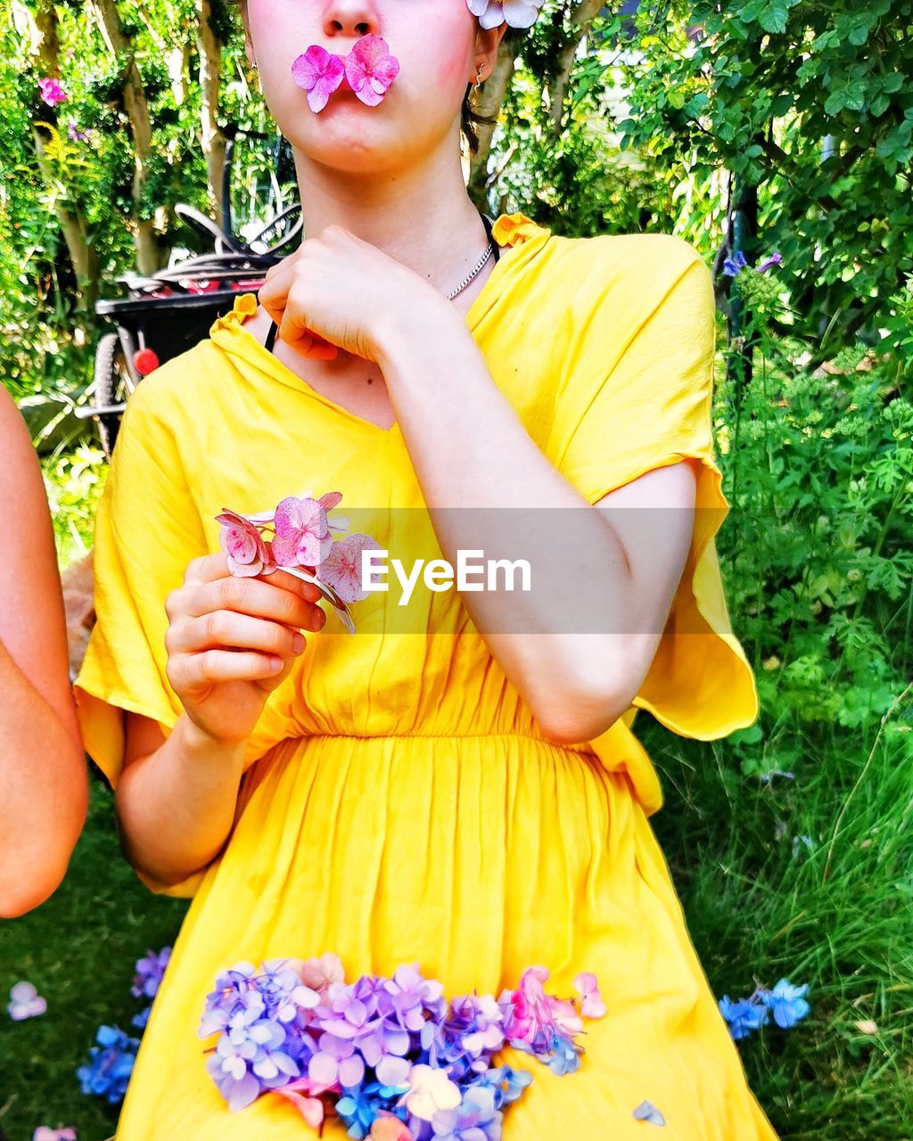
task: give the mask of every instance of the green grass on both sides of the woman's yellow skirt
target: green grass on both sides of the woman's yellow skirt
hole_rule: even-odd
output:
[[[727,742],[638,719],[666,790],[653,824],[714,993],[748,995],[783,976],[810,984],[805,1021],[740,1045],[783,1141],[913,1135],[913,734],[899,709],[867,734],[791,731],[790,748],[802,746],[794,778],[768,783],[740,776]],[[30,1141],[40,1124],[73,1125],[80,1141],[113,1133],[115,1107],[83,1097],[75,1069],[100,1023],[138,1033],[134,963],[172,942],[185,909],[123,861],[111,795],[94,780],[63,885],[3,929],[0,992],[27,979],[48,1000],[47,1014],[5,1023],[0,1038],[8,1141]]]

